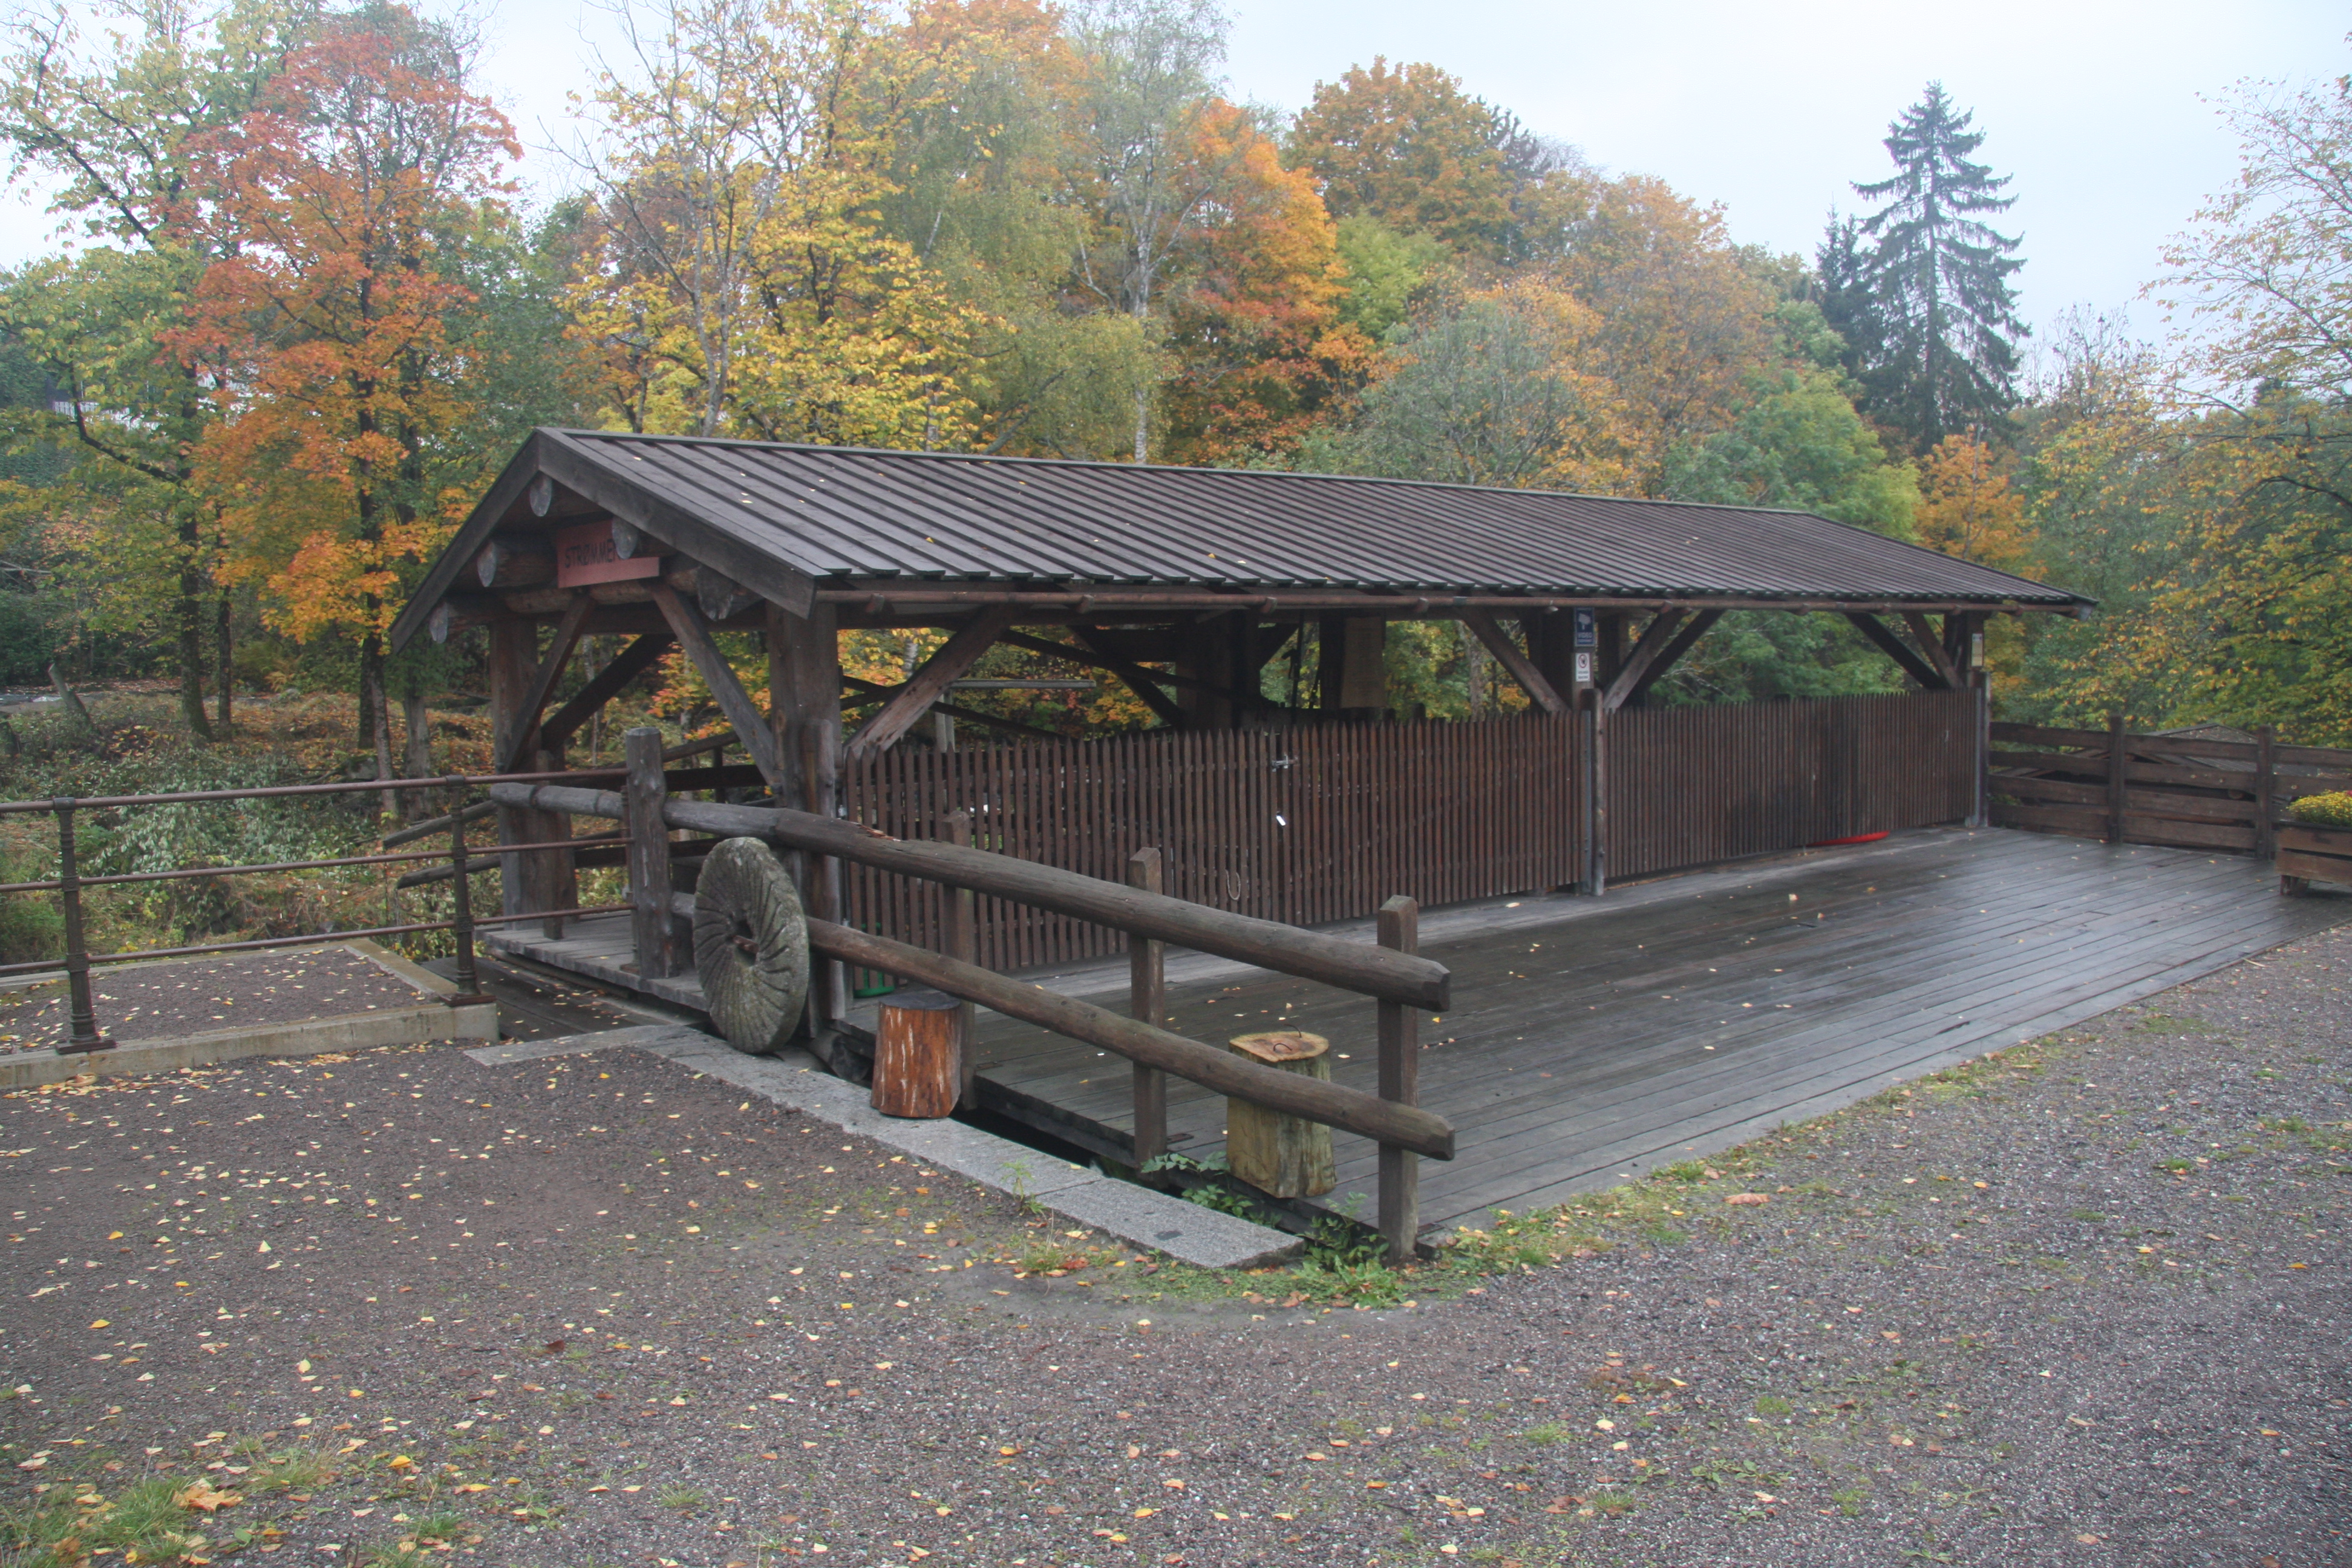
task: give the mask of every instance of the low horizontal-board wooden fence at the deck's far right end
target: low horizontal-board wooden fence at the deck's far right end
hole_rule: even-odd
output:
[[[2131,733],[2122,722],[1994,724],[1990,769],[1997,827],[2263,858],[2288,802],[2352,788],[2352,750]]]

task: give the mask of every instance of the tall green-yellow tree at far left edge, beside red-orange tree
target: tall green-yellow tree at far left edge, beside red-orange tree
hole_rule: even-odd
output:
[[[181,717],[205,717],[207,618],[228,715],[228,599],[212,599],[219,510],[195,451],[214,423],[205,367],[165,341],[205,268],[235,237],[195,221],[198,143],[249,113],[313,31],[306,0],[183,0],[125,7],[120,33],[89,42],[75,12],[12,28],[0,136],[19,176],[56,181],[52,212],[89,244],[0,282],[0,324],[54,376],[61,411],[28,409],[19,440],[75,451],[68,475],[24,498],[56,524],[68,569],[99,623],[143,628],[162,609]],[[207,616],[207,609],[212,616]]]

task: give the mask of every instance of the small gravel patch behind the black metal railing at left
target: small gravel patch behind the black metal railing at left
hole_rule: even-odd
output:
[[[343,947],[99,969],[89,983],[99,1027],[122,1044],[428,1001],[400,976]],[[52,1051],[66,1032],[64,980],[0,992],[0,1053]]]

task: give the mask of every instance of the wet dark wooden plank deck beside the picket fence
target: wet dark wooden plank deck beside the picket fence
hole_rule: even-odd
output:
[[[607,919],[619,945],[590,929],[494,940],[630,985],[626,919]],[[1475,1222],[1710,1154],[2345,919],[2352,900],[2279,898],[2244,856],[2006,830],[1912,832],[1602,900],[1439,910],[1423,952],[1454,969],[1456,1009],[1421,1025],[1421,1098],[1461,1152],[1423,1161],[1423,1218]],[[1124,964],[1030,978],[1101,1006],[1124,997]],[[1334,1077],[1374,1088],[1364,999],[1185,954],[1169,964],[1169,1016],[1207,1041],[1329,1034]],[[978,1046],[983,1105],[1049,1105],[1098,1143],[1124,1138],[1124,1060],[988,1013]],[[1169,1128],[1181,1152],[1221,1147],[1223,1100],[1171,1081]],[[1334,1140],[1324,1201],[1362,1192],[1369,1213],[1376,1152]]]

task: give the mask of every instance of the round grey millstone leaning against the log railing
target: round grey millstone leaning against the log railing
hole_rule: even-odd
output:
[[[727,839],[694,882],[694,973],[727,1044],[781,1051],[809,1001],[809,922],[762,839]]]

